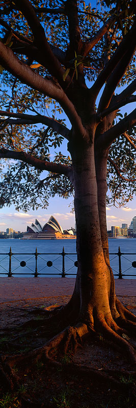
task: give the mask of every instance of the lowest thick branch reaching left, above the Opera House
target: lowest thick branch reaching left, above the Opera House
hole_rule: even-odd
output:
[[[36,167],[37,169],[51,171],[52,173],[64,174],[67,177],[70,177],[72,172],[72,167],[70,166],[37,159],[34,156],[28,155],[28,153],[25,153],[24,151],[13,151],[2,148],[0,149],[0,158],[21,160],[24,163]]]

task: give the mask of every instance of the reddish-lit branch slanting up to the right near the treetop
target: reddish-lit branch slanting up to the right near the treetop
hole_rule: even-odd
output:
[[[85,56],[89,54],[91,49],[94,47],[95,44],[103,37],[103,35],[111,28],[111,25],[113,24],[115,20],[115,16],[112,15],[108,20],[102,25],[99,31],[97,31],[96,35],[91,38],[90,41],[86,43],[85,47]]]

